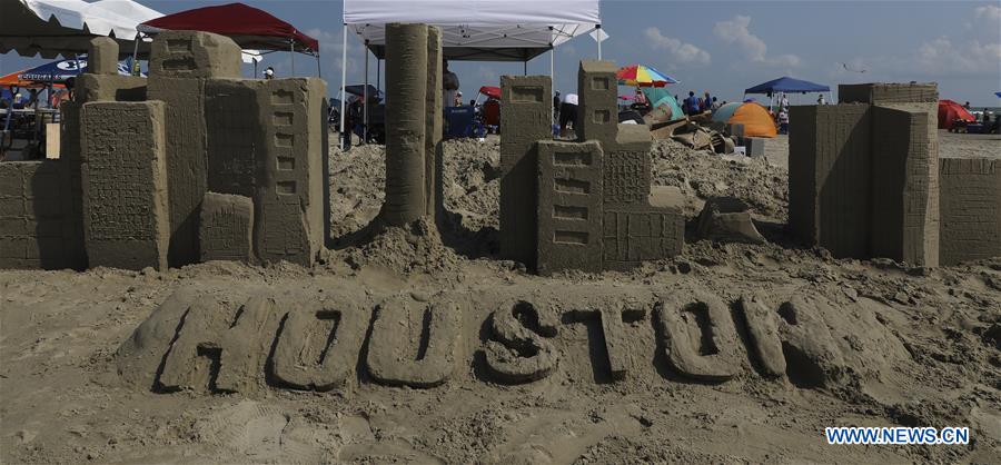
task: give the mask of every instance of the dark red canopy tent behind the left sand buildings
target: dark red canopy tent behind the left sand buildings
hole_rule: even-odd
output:
[[[317,57],[319,71],[319,41],[271,13],[244,3],[181,11],[146,21],[136,29],[146,34],[156,34],[162,30],[214,32],[232,39],[242,49],[311,55]]]

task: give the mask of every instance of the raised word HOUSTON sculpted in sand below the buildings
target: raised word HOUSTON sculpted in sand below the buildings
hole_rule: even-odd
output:
[[[267,387],[350,392],[359,383],[426,389],[470,376],[525,385],[561,366],[616,383],[655,359],[706,383],[756,372],[833,387],[872,376],[886,358],[906,357],[862,304],[797,295],[731,300],[697,287],[594,294],[576,286],[546,297],[535,290],[415,299],[265,288],[219,298],[218,289],[184,287],[121,344],[118,372],[130,385],[161,393],[254,394]],[[848,326],[831,325],[845,314]],[[577,325],[599,336],[567,338]],[[589,358],[568,355],[588,350],[574,347],[582,344],[596,344]]]

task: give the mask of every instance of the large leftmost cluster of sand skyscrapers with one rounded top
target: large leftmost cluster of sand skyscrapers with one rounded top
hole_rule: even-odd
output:
[[[221,36],[163,32],[143,79],[118,76],[117,43],[95,39],[62,107],[62,159],[0,165],[0,266],[311,265],[325,240],[326,83],[240,79],[239,55]]]

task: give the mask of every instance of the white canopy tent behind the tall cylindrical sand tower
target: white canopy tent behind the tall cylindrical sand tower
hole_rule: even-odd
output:
[[[348,29],[358,34],[366,48],[381,60],[386,57],[386,24],[392,22],[426,23],[442,28],[443,53],[447,60],[522,61],[526,63],[526,70],[528,60],[602,27],[598,0],[344,0],[341,133],[345,129]],[[598,41],[598,58],[601,50]],[[549,76],[553,73],[551,52]],[[365,85],[367,89],[367,51]],[[364,98],[367,102],[368,96]],[[367,113],[368,106],[365,108]]]

